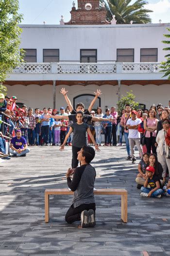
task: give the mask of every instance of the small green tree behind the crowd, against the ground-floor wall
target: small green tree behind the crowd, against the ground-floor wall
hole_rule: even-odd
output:
[[[138,108],[139,103],[135,101],[135,98],[136,96],[133,94],[132,91],[126,92],[125,96],[122,95],[122,98],[117,103],[119,115],[121,114],[122,109],[125,108],[126,104],[129,104],[132,109]]]

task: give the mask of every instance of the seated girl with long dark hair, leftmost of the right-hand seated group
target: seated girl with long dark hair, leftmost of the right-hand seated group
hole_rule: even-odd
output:
[[[149,154],[145,153],[138,164],[138,175],[136,177],[137,188],[141,189],[146,179],[146,167],[149,166]]]

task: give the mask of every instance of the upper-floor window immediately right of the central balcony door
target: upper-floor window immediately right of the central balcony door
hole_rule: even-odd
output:
[[[117,62],[134,62],[134,49],[117,49]]]

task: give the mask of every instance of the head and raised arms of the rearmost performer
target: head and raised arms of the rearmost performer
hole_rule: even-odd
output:
[[[85,105],[82,102],[77,104],[76,110],[73,109],[71,101],[69,100],[69,98],[67,96],[68,91],[66,91],[65,88],[62,88],[60,93],[64,95],[64,97],[66,99],[66,102],[68,103],[69,111],[71,112],[72,115],[76,114],[77,111],[83,111],[84,112]],[[97,90],[97,92],[94,92],[94,94],[95,94],[95,97],[91,101],[90,106],[88,107],[88,109],[85,111],[85,113],[84,113],[85,115],[90,115],[90,112],[91,112],[91,110],[93,108],[93,105],[95,104],[95,102],[98,99],[98,97],[102,94],[102,91],[101,90]]]

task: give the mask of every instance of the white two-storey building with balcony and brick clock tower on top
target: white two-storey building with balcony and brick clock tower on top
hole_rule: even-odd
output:
[[[78,0],[69,24],[62,17],[60,25],[20,25],[27,62],[7,78],[8,95],[28,107],[59,108],[66,106],[59,93],[65,87],[74,105],[82,101],[88,107],[94,91],[101,89],[96,105],[104,112],[132,90],[146,108],[168,105],[170,80],[163,78],[160,62],[165,60],[161,41],[170,23],[119,25],[113,18],[111,24],[103,20],[104,6],[96,4],[99,0]],[[83,15],[88,19],[81,21]],[[101,21],[95,22],[95,15]]]

